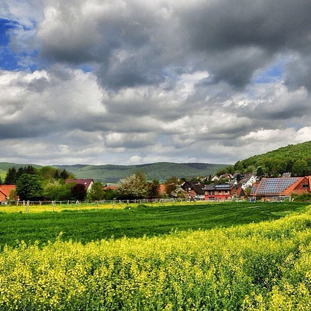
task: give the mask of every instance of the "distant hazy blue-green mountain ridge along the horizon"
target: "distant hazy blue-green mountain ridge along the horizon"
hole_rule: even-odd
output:
[[[4,176],[9,167],[23,167],[33,164],[14,164],[0,163],[0,175]],[[40,168],[40,165],[33,165]],[[146,172],[148,179],[157,178],[166,180],[170,176],[181,177],[196,177],[208,176],[214,174],[219,169],[227,166],[227,164],[212,164],[212,163],[173,163],[173,162],[157,162],[140,165],[50,165],[58,169],[66,169],[73,173],[76,178],[93,178],[96,181],[102,182],[117,182],[120,178],[124,178],[139,170]]]

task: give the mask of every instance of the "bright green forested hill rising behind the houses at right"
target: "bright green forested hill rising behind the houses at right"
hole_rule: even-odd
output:
[[[292,172],[294,175],[304,175],[311,170],[311,141],[296,145],[288,145],[267,153],[238,161],[234,165],[235,171],[250,171],[262,167],[265,172],[283,174]]]

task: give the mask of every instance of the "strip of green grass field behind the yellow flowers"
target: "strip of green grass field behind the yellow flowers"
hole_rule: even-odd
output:
[[[30,206],[29,213],[25,213],[22,206],[1,207],[0,245],[13,246],[17,244],[17,240],[24,240],[27,244],[36,240],[40,243],[55,241],[60,232],[63,233],[64,240],[86,243],[111,236],[142,237],[168,234],[172,230],[230,227],[276,220],[288,213],[303,211],[306,204],[229,202],[137,206],[132,205],[130,209],[83,206],[81,210],[64,205],[55,208],[62,208],[63,211],[60,212],[52,212],[51,206]],[[14,212],[19,209],[23,212]],[[41,210],[48,211],[40,212]]]

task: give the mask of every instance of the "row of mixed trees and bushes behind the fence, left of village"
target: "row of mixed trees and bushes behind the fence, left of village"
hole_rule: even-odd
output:
[[[65,183],[66,179],[75,176],[67,170],[53,167],[36,169],[33,166],[10,167],[4,179],[4,184],[15,184],[16,190],[10,193],[10,200],[17,197],[20,200],[136,200],[144,198],[160,198],[163,196],[183,197],[182,179],[170,177],[165,182],[165,194],[160,194],[160,181],[147,180],[143,171],[122,178],[117,190],[103,190],[101,182],[94,182],[89,191],[83,184]],[[0,179],[0,184],[2,184]]]

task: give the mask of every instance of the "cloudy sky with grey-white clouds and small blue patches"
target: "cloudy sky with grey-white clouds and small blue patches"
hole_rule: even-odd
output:
[[[311,140],[311,2],[2,0],[0,162],[233,164]]]

